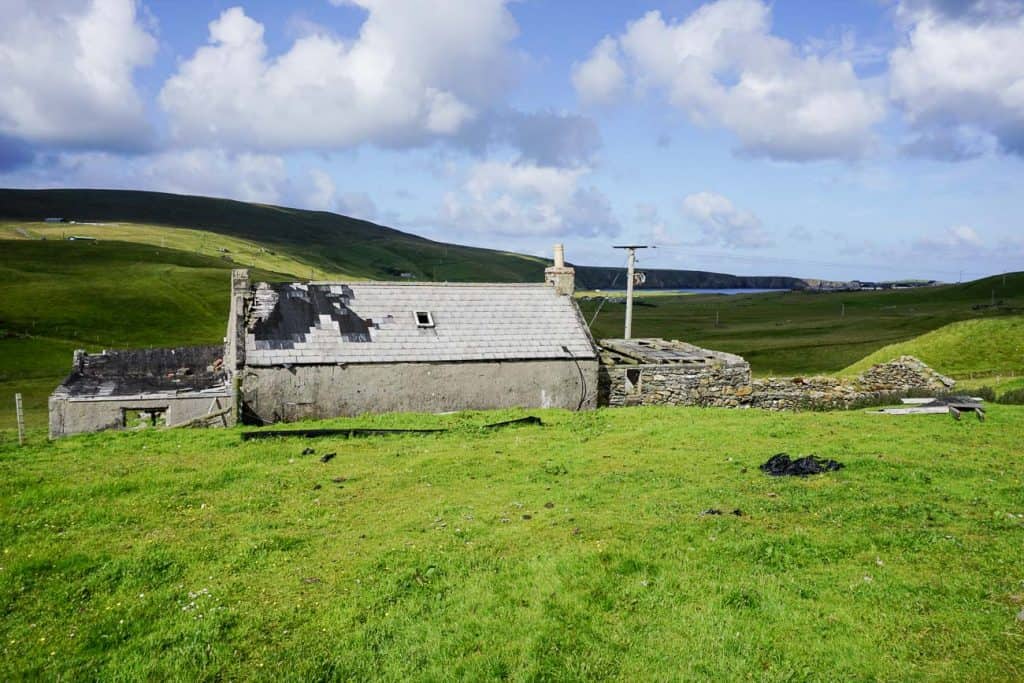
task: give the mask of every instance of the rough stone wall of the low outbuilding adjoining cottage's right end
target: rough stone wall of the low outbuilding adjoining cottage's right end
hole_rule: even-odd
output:
[[[706,364],[601,366],[599,404],[740,407],[752,392],[751,365],[710,353],[714,359]]]

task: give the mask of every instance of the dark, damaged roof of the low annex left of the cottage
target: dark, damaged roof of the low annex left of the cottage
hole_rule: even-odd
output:
[[[224,392],[223,346],[183,346],[76,354],[56,396],[108,398]]]

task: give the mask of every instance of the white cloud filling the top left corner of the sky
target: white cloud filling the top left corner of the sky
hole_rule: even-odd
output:
[[[157,41],[134,0],[0,2],[0,136],[82,148],[147,146],[132,81]]]

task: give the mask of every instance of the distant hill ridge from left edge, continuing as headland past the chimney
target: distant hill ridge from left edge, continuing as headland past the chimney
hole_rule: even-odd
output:
[[[78,222],[41,223],[46,217]],[[303,278],[312,273],[315,278],[395,280],[411,273],[426,281],[539,282],[549,264],[523,254],[433,242],[327,211],[136,190],[0,189],[0,230],[4,225],[7,236],[15,238],[75,233],[179,245]],[[189,233],[174,236],[167,228]],[[649,270],[647,275],[652,286],[675,288],[785,288],[804,283],[796,278],[700,270]],[[577,279],[586,288],[623,284],[621,268],[579,266]]]

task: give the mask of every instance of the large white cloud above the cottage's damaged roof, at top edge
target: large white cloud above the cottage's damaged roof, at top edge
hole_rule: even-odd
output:
[[[179,141],[260,150],[404,145],[457,134],[505,85],[517,28],[506,0],[353,0],[358,36],[268,52],[241,7],[210,24],[160,101]]]

